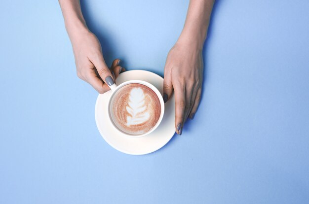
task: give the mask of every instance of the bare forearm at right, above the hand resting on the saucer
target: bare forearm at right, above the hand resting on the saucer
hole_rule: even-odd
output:
[[[190,0],[184,28],[177,40],[202,49],[214,0]]]

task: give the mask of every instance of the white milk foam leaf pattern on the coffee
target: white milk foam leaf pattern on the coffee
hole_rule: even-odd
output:
[[[127,116],[126,126],[138,125],[148,120],[150,114],[145,112],[145,94],[141,88],[133,88],[130,91],[129,102],[126,106],[127,112],[131,116]]]

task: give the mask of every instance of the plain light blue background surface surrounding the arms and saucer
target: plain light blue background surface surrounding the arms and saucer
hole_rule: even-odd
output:
[[[108,65],[163,75],[188,0],[87,0]],[[218,0],[183,135],[116,151],[77,78],[56,0],[0,8],[1,204],[309,203],[309,1]]]

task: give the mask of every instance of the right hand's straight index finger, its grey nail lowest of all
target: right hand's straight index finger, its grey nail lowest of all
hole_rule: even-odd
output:
[[[175,91],[175,128],[178,135],[182,134],[184,111],[186,106],[186,89],[185,85],[178,82],[174,85]]]

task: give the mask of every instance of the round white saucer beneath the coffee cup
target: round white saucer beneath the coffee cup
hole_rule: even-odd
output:
[[[119,74],[116,84],[124,81],[139,79],[153,84],[163,94],[163,78],[151,71],[130,70]],[[163,147],[175,134],[175,98],[165,103],[165,111],[160,125],[147,136],[131,138],[115,130],[110,124],[107,105],[111,91],[99,94],[95,104],[95,121],[101,136],[116,150],[133,155],[142,155],[154,152]]]

